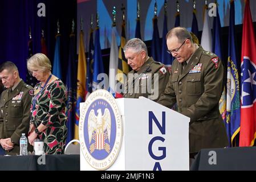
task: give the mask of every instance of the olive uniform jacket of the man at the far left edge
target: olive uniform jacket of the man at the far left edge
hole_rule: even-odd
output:
[[[21,134],[29,132],[33,88],[21,80],[13,91],[10,90],[6,89],[1,95],[0,138],[11,138],[14,148],[6,154],[17,155]]]

